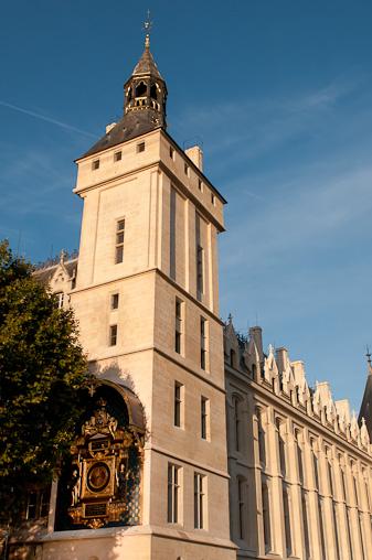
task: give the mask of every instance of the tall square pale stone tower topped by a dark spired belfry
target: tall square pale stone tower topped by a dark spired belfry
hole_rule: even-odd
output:
[[[75,518],[91,511],[96,530],[54,530],[43,553],[233,559],[217,272],[225,201],[203,174],[201,150],[183,151],[166,131],[167,86],[149,36],[124,89],[120,121],[76,160],[84,209],[70,297],[92,370],[120,388],[136,429],[144,407],[139,498],[130,524],[106,523],[99,500],[76,506]],[[113,432],[115,420],[98,411],[87,433],[97,414]],[[87,472],[94,498],[105,469]]]

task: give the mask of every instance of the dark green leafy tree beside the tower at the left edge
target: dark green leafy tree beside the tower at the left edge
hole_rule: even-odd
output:
[[[88,376],[71,310],[0,243],[0,503],[17,510],[68,452]]]

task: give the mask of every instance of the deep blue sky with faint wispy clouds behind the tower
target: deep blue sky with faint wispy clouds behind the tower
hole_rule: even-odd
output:
[[[228,6],[228,8],[227,8]],[[371,327],[372,4],[150,1],[169,132],[203,143],[227,198],[221,313],[304,359],[358,409]],[[0,238],[33,261],[78,246],[73,160],[121,112],[144,9],[3,2]]]

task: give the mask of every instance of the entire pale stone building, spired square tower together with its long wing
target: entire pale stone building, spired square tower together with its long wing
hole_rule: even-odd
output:
[[[13,559],[368,559],[368,430],[285,348],[219,314],[224,198],[167,133],[145,52],[124,116],[76,160],[78,258],[39,269],[96,383],[71,461],[29,492]]]

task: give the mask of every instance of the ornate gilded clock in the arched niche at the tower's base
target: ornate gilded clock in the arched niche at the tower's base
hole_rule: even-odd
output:
[[[72,446],[72,524],[98,529],[120,524],[132,508],[131,496],[139,496],[142,438],[118,420],[100,399],[98,408],[82,427]],[[138,502],[138,499],[137,499]],[[137,504],[138,505],[138,504]],[[138,516],[138,507],[136,509]],[[78,527],[76,527],[78,528]]]

